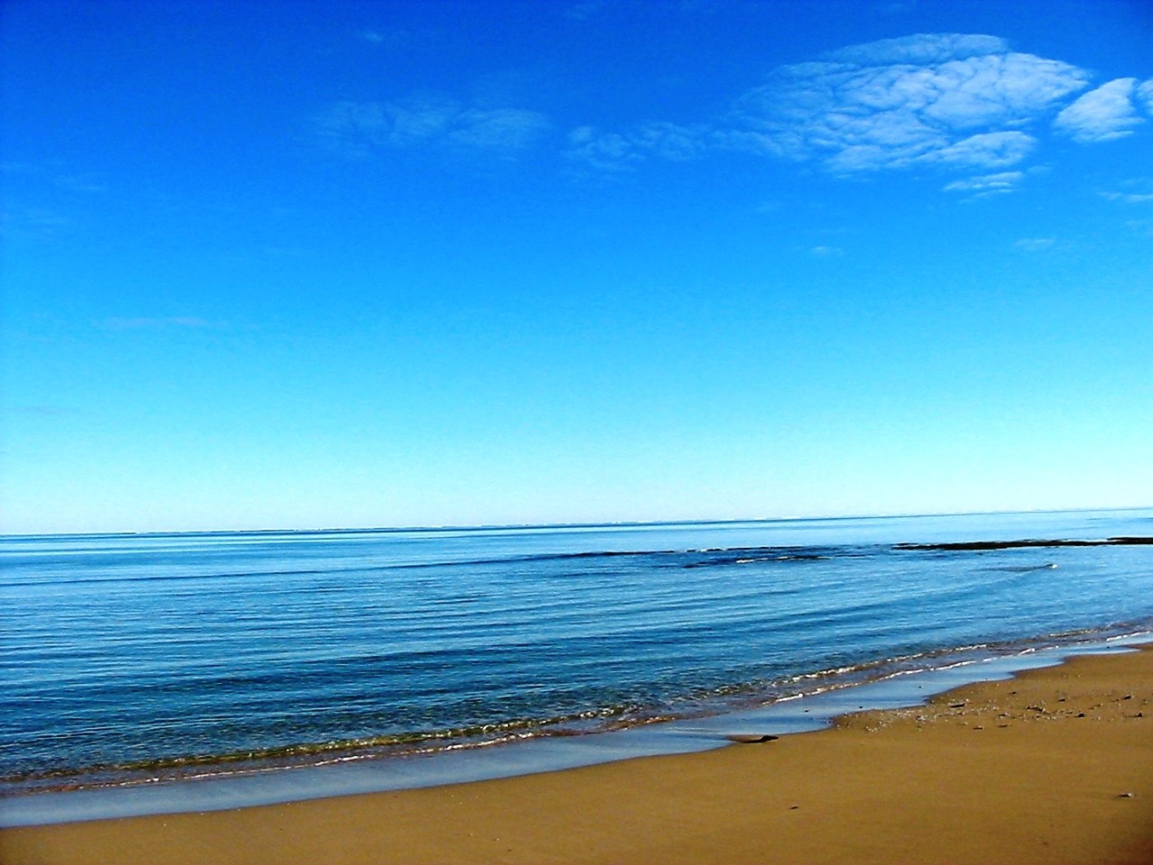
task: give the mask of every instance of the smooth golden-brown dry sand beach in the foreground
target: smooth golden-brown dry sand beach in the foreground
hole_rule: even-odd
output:
[[[701,754],[0,833],[37,863],[1153,863],[1153,648]]]

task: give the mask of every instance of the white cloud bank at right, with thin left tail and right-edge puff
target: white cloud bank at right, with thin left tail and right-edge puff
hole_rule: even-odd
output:
[[[945,186],[1009,191],[1049,128],[1082,144],[1129,135],[1153,112],[1153,81],[1093,90],[1088,72],[1012,51],[995,36],[918,33],[854,45],[776,69],[713,123],[647,123],[624,133],[581,127],[566,156],[621,171],[649,157],[709,150],[811,163],[838,175],[936,166],[979,172]]]

